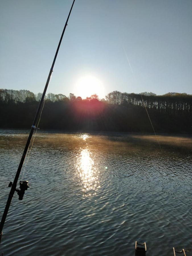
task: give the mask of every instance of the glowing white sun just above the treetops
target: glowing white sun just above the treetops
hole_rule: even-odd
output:
[[[99,96],[99,98],[103,98],[105,95],[103,83],[98,78],[87,75],[80,77],[75,83],[76,96],[86,99],[86,97],[90,97],[95,93]]]

